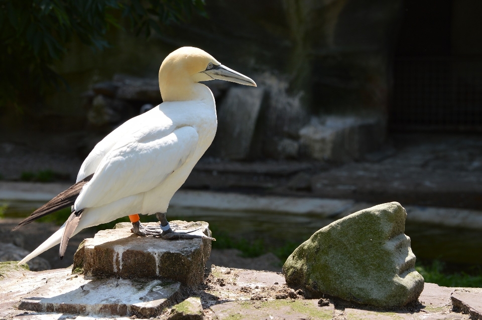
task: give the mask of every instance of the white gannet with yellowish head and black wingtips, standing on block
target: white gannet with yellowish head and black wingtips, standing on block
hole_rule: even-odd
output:
[[[59,243],[62,258],[69,239],[80,230],[125,216],[131,219],[132,231],[141,236],[205,237],[192,234],[192,230],[173,231],[166,212],[172,196],[216,133],[214,97],[208,87],[199,83],[213,79],[256,87],[252,79],[221,65],[201,49],[183,47],[169,54],[159,69],[163,103],[104,137],[85,158],[76,184],[13,229],[57,210],[72,208],[60,229],[19,264]],[[160,228],[143,226],[139,213],[156,214]]]

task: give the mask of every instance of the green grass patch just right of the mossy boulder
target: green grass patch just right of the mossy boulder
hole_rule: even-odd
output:
[[[431,265],[417,265],[415,269],[423,276],[425,282],[436,283],[446,287],[482,287],[482,267],[474,267],[474,274],[465,272],[445,273],[445,264],[434,260]]]

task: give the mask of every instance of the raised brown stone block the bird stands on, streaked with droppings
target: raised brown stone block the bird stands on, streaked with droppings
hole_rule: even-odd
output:
[[[201,229],[210,235],[206,222],[171,221],[180,228]],[[147,225],[158,225],[150,223]],[[204,265],[211,242],[206,239],[163,240],[140,237],[131,232],[131,223],[102,230],[85,239],[74,256],[74,272],[88,276],[121,278],[163,278],[195,286],[203,281]]]

